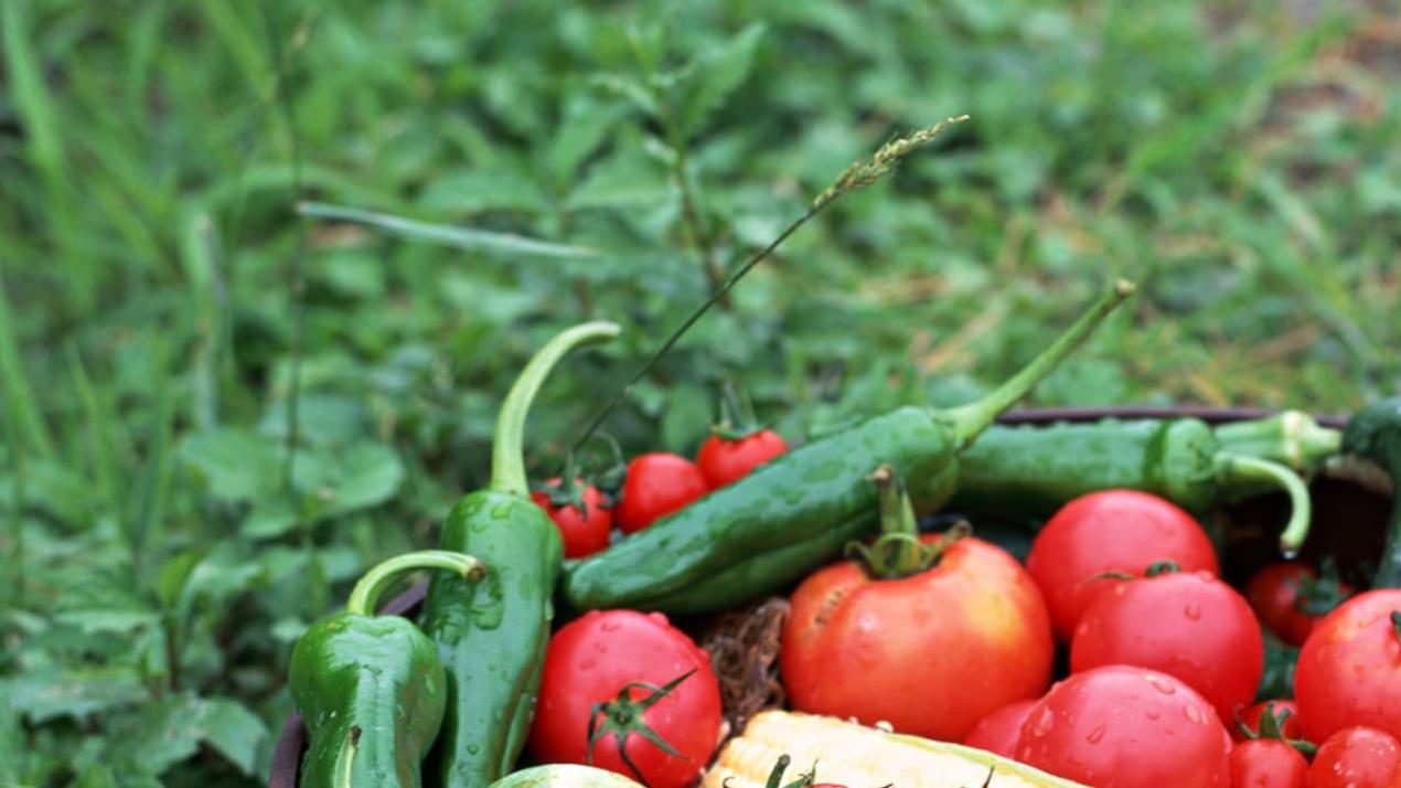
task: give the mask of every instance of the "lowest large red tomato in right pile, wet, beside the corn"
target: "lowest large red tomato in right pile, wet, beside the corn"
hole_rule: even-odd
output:
[[[1230,736],[1187,684],[1145,667],[1075,673],[1021,725],[1017,759],[1097,788],[1226,788]]]

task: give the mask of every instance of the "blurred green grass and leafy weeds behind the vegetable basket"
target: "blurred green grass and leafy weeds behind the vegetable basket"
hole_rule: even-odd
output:
[[[692,450],[727,376],[794,439],[962,401],[1114,275],[1131,314],[1037,404],[1401,390],[1394,4],[6,0],[0,27],[0,785],[255,785],[291,642],[485,480],[534,346],[626,327],[537,408],[549,473],[717,276],[948,115],[608,430]]]

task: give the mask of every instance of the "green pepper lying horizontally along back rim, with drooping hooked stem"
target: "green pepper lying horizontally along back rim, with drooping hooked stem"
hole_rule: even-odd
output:
[[[1281,548],[1309,533],[1313,474],[1342,435],[1286,411],[1212,429],[1201,419],[1103,419],[1049,426],[992,426],[964,451],[950,508],[965,515],[1045,517],[1098,489],[1142,489],[1184,509],[1283,488],[1293,505]]]

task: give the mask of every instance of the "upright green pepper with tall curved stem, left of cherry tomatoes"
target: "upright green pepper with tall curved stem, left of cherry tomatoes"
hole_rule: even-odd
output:
[[[448,709],[437,749],[446,788],[482,788],[504,777],[525,743],[563,561],[559,530],[530,499],[525,415],[569,351],[616,335],[616,324],[586,322],[535,353],[497,415],[490,487],[460,499],[443,526],[443,548],[490,566],[481,583],[433,578],[423,603],[423,631],[447,669]]]

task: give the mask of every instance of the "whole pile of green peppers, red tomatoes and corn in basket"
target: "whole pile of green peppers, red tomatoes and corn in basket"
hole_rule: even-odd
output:
[[[877,178],[897,143],[838,184]],[[441,550],[377,566],[297,644],[301,785],[1401,785],[1401,508],[1370,590],[1297,561],[1304,478],[1362,461],[1395,478],[1401,401],[1344,432],[1299,412],[993,425],[1132,290],[975,402],[790,446],[727,386],[693,461],[590,473],[570,453],[531,491],[531,401],[618,327],[562,332],[506,395],[490,487],[453,508]],[[1233,586],[1216,508],[1269,491],[1288,501],[1257,523],[1274,559]],[[930,533],[936,510],[967,519]],[[981,531],[999,519],[1024,558]],[[417,627],[375,617],[416,568],[434,572]],[[731,729],[689,632],[775,595],[786,709]],[[1295,646],[1281,688],[1267,663]]]

